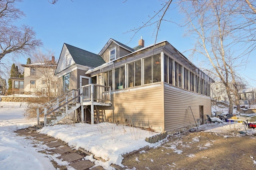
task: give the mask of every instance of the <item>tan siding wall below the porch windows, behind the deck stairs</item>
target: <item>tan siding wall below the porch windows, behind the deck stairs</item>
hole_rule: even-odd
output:
[[[120,122],[155,129],[163,128],[162,86],[136,89],[124,92],[112,92],[112,106],[99,107],[104,109],[106,119],[110,122]],[[126,122],[127,119],[127,122]]]

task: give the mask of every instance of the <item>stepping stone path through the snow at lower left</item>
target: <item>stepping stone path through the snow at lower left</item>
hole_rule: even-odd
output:
[[[43,142],[49,147],[47,152],[53,152],[54,154],[60,154],[58,158],[70,162],[69,166],[72,166],[76,170],[89,170],[95,164],[89,160],[83,160],[83,158],[89,153],[84,153],[79,150],[72,149],[66,145],[64,141],[60,141],[43,133],[36,133],[36,129],[20,129],[15,131],[20,136],[27,136],[27,139],[33,139],[39,142]],[[34,141],[33,141],[34,142]],[[41,152],[41,151],[40,151]],[[50,153],[48,153],[50,154]],[[90,153],[91,154],[91,153]],[[53,161],[52,161],[53,162]],[[60,166],[56,162],[53,163],[54,167],[60,170],[66,170],[66,166]],[[101,166],[96,166],[90,170],[104,170]]]

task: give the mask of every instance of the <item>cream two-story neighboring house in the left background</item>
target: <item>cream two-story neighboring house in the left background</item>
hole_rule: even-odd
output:
[[[51,93],[50,96],[56,96],[58,92],[58,79],[54,76],[57,66],[54,56],[52,56],[51,61],[22,64],[22,66],[24,67],[24,94]]]

